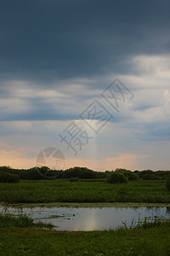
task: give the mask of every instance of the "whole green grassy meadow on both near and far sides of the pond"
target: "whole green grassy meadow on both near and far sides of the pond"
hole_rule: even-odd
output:
[[[0,183],[2,204],[170,203],[166,180],[105,183],[105,179],[20,180]],[[43,230],[45,228],[46,230]],[[0,215],[0,255],[170,255],[170,223],[131,229],[65,232],[31,218]]]

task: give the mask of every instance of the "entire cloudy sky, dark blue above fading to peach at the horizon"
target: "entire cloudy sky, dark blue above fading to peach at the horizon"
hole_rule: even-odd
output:
[[[0,166],[169,170],[169,1],[0,6]]]

